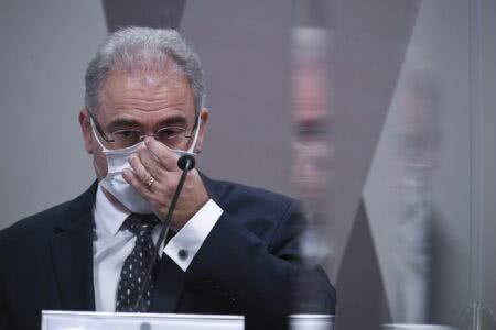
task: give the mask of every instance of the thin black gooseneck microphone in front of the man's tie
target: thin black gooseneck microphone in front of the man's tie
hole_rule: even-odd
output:
[[[174,196],[172,196],[171,206],[169,207],[168,215],[165,217],[165,221],[162,226],[162,229],[160,230],[159,240],[155,244],[155,253],[152,255],[152,260],[150,261],[150,264],[147,268],[147,274],[144,275],[144,280],[141,284],[140,292],[138,294],[138,298],[136,299],[133,310],[138,310],[138,307],[140,306],[140,302],[143,298],[143,294],[145,293],[148,286],[150,285],[151,280],[151,272],[153,271],[153,266],[157,263],[157,258],[159,257],[160,248],[162,246],[163,242],[165,241],[165,238],[169,234],[169,228],[171,227],[171,220],[172,215],[175,210],[175,205],[177,204],[179,196],[181,194],[181,190],[183,189],[184,182],[186,180],[187,173],[195,167],[195,157],[191,154],[183,154],[177,160],[177,167],[183,170],[181,174],[180,182],[177,184],[177,187],[175,188]]]

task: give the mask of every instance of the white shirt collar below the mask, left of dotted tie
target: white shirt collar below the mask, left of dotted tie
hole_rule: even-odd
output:
[[[95,201],[95,229],[104,235],[116,235],[131,212],[118,209],[98,184]]]

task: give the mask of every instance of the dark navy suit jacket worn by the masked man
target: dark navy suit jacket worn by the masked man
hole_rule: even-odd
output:
[[[203,176],[224,209],[188,270],[168,255],[157,267],[151,311],[273,317],[308,312],[290,304],[303,270],[303,218],[287,197]],[[0,329],[40,329],[41,310],[95,310],[93,206],[96,183],[74,200],[0,231]],[[310,311],[334,314],[335,292],[322,270]]]

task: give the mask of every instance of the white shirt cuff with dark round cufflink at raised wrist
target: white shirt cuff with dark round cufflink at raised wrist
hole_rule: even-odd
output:
[[[169,241],[163,252],[186,272],[223,212],[224,210],[213,199],[209,199]]]

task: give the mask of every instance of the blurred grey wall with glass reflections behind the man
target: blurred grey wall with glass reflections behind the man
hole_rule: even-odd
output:
[[[200,168],[303,200],[337,329],[496,329],[496,1],[2,0],[0,228],[95,179],[84,72],[128,25],[200,54]]]

